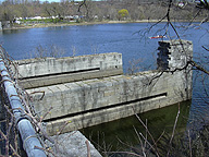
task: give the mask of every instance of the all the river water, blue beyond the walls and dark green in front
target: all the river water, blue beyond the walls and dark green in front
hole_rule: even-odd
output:
[[[165,23],[149,29],[152,23],[127,23],[2,31],[0,32],[0,44],[15,60],[36,57],[37,47],[48,49],[51,46],[64,52],[63,56],[121,52],[124,73],[127,73],[132,63],[137,63],[140,67],[139,71],[156,69],[159,39],[149,39],[149,37],[164,35],[167,31],[167,37],[176,38],[171,27],[165,28]],[[194,59],[198,60],[199,57],[204,59],[202,56],[208,52],[201,46],[209,45],[208,23],[189,27],[182,27],[182,25],[187,26],[188,23],[174,23],[174,25],[182,39],[193,41]],[[188,122],[202,118],[207,119],[208,106],[199,96],[204,95],[204,86],[207,86],[209,81],[208,77],[201,77],[199,73],[194,72],[194,75],[198,77],[194,76],[193,99],[181,105],[182,119],[186,119],[186,121],[180,120],[182,121],[180,123],[183,124],[180,130],[186,128]],[[206,84],[200,84],[199,80],[206,80]],[[163,130],[169,126],[169,130],[171,130],[176,112],[177,106],[174,105],[165,109],[144,113],[142,117],[144,120],[148,119],[151,128]],[[133,125],[137,128],[139,125],[137,123],[136,118],[131,117],[83,130],[83,133],[94,141],[98,136],[102,136],[107,146],[112,144],[112,136],[114,136],[114,140],[116,140],[116,136],[120,136],[120,138],[126,137],[128,140],[123,138],[123,141],[134,143],[133,136],[128,136],[128,134],[134,134]],[[159,135],[157,132],[155,134]],[[97,140],[97,143],[101,143],[101,140],[100,142]]]

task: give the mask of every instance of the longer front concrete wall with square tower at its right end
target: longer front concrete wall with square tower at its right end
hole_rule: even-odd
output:
[[[52,108],[45,118],[48,133],[56,134],[66,121],[70,123],[64,132],[190,99],[192,70],[185,61],[192,58],[192,43],[163,41],[160,43],[159,50],[163,53],[159,53],[157,71],[27,89],[29,94],[34,94],[33,105],[39,116]],[[161,59],[164,55],[168,57]],[[112,62],[114,61],[118,62],[113,59]]]

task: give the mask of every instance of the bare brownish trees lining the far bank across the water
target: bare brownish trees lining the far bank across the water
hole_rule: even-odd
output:
[[[10,21],[15,17],[57,16],[62,20],[67,15],[79,15],[85,21],[103,20],[159,20],[167,12],[165,0],[104,0],[75,2],[62,0],[61,2],[32,1],[32,0],[5,0],[0,4],[0,21]],[[127,10],[128,14],[122,19],[120,10]],[[193,0],[185,0],[184,5],[179,5],[179,0],[171,8],[172,20],[190,20],[196,13]],[[199,12],[199,16],[206,16],[207,12]],[[124,17],[124,16],[123,16]],[[59,22],[59,21],[56,21]]]

